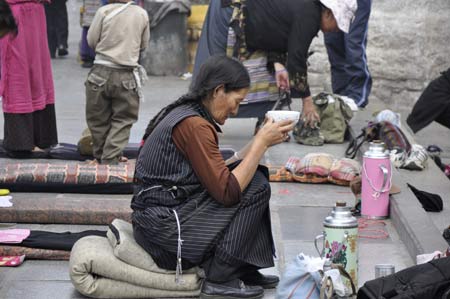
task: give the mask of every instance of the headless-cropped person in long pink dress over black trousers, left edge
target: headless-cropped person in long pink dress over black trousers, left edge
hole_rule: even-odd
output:
[[[3,147],[20,157],[58,143],[55,92],[42,1],[6,2],[19,28],[0,41]]]

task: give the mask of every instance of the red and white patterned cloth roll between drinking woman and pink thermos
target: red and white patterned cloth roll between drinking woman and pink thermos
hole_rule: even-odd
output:
[[[360,175],[361,165],[352,159],[336,159],[326,153],[311,153],[303,158],[290,157],[286,165],[270,168],[270,181],[333,183],[349,186]]]

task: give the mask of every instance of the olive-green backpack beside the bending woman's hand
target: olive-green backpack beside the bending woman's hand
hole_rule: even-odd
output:
[[[352,109],[337,95],[321,92],[313,97],[325,143],[343,143]]]

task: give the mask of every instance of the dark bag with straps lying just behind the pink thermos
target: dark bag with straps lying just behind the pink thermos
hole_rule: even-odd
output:
[[[355,158],[356,153],[364,142],[372,142],[374,140],[383,142],[388,150],[400,148],[408,155],[411,152],[411,143],[408,141],[405,133],[390,122],[369,122],[369,124],[362,128],[361,131],[361,134],[349,143],[348,148],[345,151],[345,156],[347,158]]]

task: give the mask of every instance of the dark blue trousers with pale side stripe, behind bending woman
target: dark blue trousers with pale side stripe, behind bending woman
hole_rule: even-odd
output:
[[[367,67],[367,29],[372,0],[358,0],[358,10],[344,32],[325,33],[325,45],[331,64],[333,93],[352,98],[359,107],[368,104],[372,77]]]

